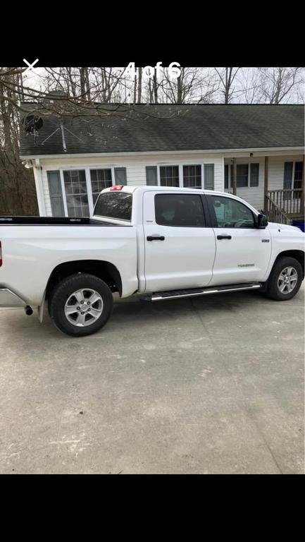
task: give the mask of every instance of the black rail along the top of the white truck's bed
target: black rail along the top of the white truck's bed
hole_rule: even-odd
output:
[[[0,216],[0,226],[118,226],[89,217],[5,217]]]

